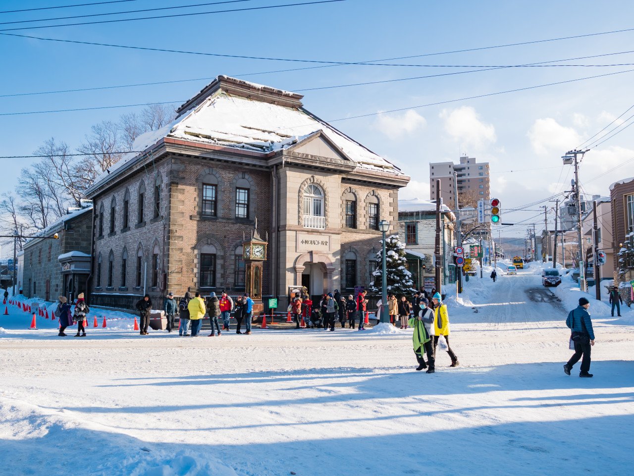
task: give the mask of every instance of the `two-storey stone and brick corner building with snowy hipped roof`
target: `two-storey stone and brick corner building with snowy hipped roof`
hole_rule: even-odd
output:
[[[300,94],[220,76],[87,190],[92,302],[244,290],[242,243],[268,240],[262,294],[367,285],[378,222],[409,177],[304,109]]]

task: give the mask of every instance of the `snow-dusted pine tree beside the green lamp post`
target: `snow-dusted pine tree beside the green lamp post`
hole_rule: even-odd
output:
[[[378,267],[372,276],[374,281],[370,283],[370,292],[380,293],[382,289],[382,260],[383,260],[383,240],[379,241],[381,250],[377,253]],[[407,260],[405,259],[405,245],[398,239],[398,235],[385,238],[385,267],[387,271],[387,293],[409,295],[413,289],[411,273],[407,270]]]

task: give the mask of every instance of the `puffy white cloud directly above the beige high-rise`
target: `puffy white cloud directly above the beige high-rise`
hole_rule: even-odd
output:
[[[444,130],[463,148],[480,149],[494,143],[495,127],[480,120],[480,115],[470,106],[443,110],[439,117],[444,119]]]

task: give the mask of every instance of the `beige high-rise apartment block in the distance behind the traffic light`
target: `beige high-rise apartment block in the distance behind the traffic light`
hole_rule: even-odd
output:
[[[491,194],[489,181],[489,163],[477,162],[474,157],[460,156],[458,164],[454,162],[432,162],[429,164],[430,199],[436,200],[436,180],[441,181],[441,198],[450,207],[455,206],[456,190],[453,172],[456,172],[458,194],[465,194],[475,200],[488,201]]]

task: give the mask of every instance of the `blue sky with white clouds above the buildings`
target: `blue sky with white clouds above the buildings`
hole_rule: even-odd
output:
[[[0,10],[89,3],[94,0],[3,1]],[[296,0],[300,1],[300,0]],[[198,1],[136,0],[101,6],[1,13],[0,22],[87,15]],[[182,8],[167,13],[225,10],[283,3],[242,3]],[[424,55],[455,49],[550,39],[633,28],[634,4],[626,1],[573,4],[552,1],[432,2],[347,0],[340,3],[16,31],[56,39],[108,42],[152,48],[205,51],[325,61],[368,61]],[[160,15],[162,12],[137,14]],[[132,17],[135,15],[127,15]],[[122,18],[122,16],[113,16]],[[93,20],[88,18],[86,20]],[[70,20],[78,22],[81,20]],[[85,21],[85,20],[84,20]],[[60,20],[59,23],[67,22]],[[24,26],[25,24],[22,24]],[[29,24],[27,24],[29,25]],[[31,24],[33,25],[33,24]],[[0,25],[0,30],[20,24]],[[403,60],[425,65],[513,65],[628,51],[634,32],[467,53]],[[0,94],[112,86],[164,80],[243,75],[302,67],[285,61],[215,58],[176,53],[82,46],[0,35],[3,74]],[[634,63],[634,53],[568,61],[571,64]],[[241,76],[269,86],[298,90],[356,82],[455,72],[466,68],[340,66]],[[478,94],[634,69],[623,67],[507,68],[370,86],[307,91],[307,109],[325,120],[436,103]],[[569,183],[560,155],[599,131],[634,103],[634,72],[588,79],[532,91],[411,108],[335,125],[373,151],[398,164],[412,178],[404,198],[429,199],[429,162],[456,160],[461,152],[491,162],[491,193],[503,210],[534,202]],[[125,105],[190,98],[209,80],[82,93],[0,98],[0,113]],[[140,110],[141,108],[136,108]],[[116,120],[134,108],[0,116],[0,155],[28,155],[54,137],[76,147],[90,125]],[[625,117],[628,117],[627,114]],[[593,179],[634,157],[634,128],[586,155],[581,182],[588,193],[607,195],[610,183],[634,175],[634,162]],[[3,160],[5,181],[25,160]],[[537,169],[526,172],[507,170]],[[569,174],[566,176],[566,174]],[[592,180],[593,179],[593,180]],[[587,183],[586,183],[587,181]],[[538,210],[531,207],[530,210]],[[504,215],[505,221],[530,219],[538,211]],[[537,222],[543,221],[539,218]],[[539,228],[539,227],[538,227]],[[523,236],[526,226],[507,227],[506,236]]]

